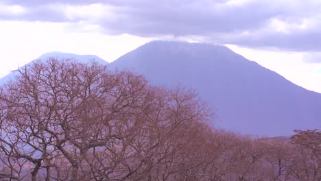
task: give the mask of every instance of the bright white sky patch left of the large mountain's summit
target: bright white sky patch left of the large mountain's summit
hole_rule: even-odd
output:
[[[150,41],[128,34],[108,36],[68,23],[0,21],[0,76],[49,51],[93,54],[111,62]]]

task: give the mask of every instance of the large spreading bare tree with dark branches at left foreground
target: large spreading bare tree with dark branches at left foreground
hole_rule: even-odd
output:
[[[95,62],[49,58],[17,74],[0,92],[2,178],[151,178],[209,116],[187,90]]]

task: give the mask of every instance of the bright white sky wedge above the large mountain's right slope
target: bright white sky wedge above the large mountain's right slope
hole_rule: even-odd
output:
[[[306,63],[305,53],[248,49],[237,45],[226,45],[248,60],[258,62],[263,67],[275,71],[298,86],[321,93],[321,64]]]

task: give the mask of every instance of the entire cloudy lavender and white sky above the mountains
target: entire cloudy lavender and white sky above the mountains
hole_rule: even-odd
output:
[[[321,93],[320,0],[0,0],[0,77],[43,53],[112,62],[150,40],[226,45]]]

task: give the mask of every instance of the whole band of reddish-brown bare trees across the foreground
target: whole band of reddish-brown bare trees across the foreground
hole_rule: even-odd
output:
[[[321,180],[320,130],[217,130],[192,90],[97,62],[48,58],[14,75],[0,88],[1,180]]]

